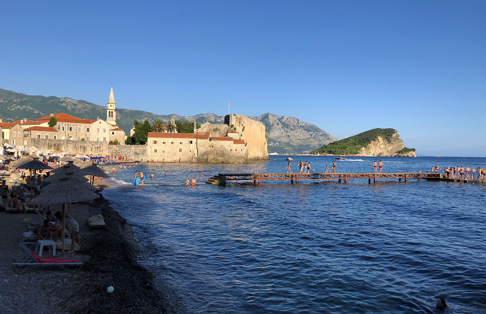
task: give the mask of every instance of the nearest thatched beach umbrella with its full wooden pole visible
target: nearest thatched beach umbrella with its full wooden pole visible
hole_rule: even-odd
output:
[[[62,255],[64,256],[64,230],[66,229],[66,205],[75,202],[82,202],[99,198],[100,196],[91,191],[79,188],[76,184],[68,182],[69,178],[59,179],[59,182],[52,183],[49,191],[35,197],[30,203],[33,205],[55,205],[62,204]],[[71,240],[72,241],[72,240]]]

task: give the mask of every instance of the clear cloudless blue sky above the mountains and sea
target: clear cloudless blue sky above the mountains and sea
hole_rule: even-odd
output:
[[[101,3],[104,2],[104,3]],[[486,1],[3,1],[0,88],[486,156]]]

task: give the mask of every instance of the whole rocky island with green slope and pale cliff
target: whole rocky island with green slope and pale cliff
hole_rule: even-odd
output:
[[[373,129],[323,145],[313,154],[366,155],[377,157],[417,157],[415,149],[405,147],[395,129]]]

